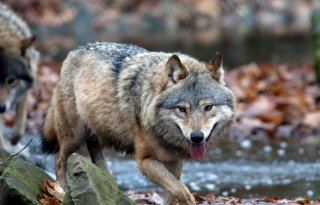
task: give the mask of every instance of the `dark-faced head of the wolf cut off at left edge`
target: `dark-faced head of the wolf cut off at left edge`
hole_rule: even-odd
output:
[[[32,86],[33,77],[26,50],[34,37],[10,41],[0,47],[0,114],[4,113]]]

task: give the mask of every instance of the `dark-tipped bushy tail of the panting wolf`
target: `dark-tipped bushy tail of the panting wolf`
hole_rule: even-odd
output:
[[[54,129],[54,111],[49,107],[42,129],[41,149],[43,153],[53,154],[59,151],[57,133]]]

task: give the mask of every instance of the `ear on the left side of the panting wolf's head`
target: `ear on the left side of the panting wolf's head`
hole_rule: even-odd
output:
[[[186,67],[181,63],[177,55],[172,55],[166,64],[166,76],[169,82],[175,84],[179,80],[187,77],[188,71]]]

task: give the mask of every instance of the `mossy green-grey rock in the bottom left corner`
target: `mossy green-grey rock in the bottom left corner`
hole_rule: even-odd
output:
[[[0,204],[39,205],[37,197],[43,194],[41,180],[53,179],[42,169],[20,159],[6,164],[0,176]]]

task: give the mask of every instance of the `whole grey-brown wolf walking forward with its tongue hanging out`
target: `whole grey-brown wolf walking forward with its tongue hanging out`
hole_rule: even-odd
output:
[[[66,185],[67,158],[87,144],[107,169],[104,147],[135,153],[139,169],[166,191],[165,204],[195,204],[180,182],[185,159],[203,160],[210,138],[226,134],[235,97],[219,53],[202,63],[180,53],[93,43],[63,62],[43,129],[43,151],[58,151],[56,174]]]

